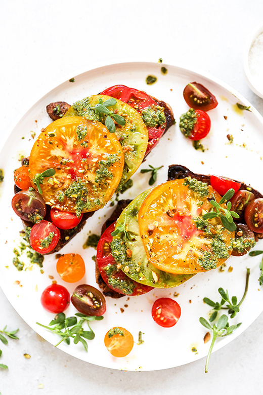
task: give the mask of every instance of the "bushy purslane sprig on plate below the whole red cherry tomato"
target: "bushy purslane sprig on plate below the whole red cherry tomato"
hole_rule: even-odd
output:
[[[97,317],[96,315],[85,315],[82,313],[75,313],[75,315],[76,317],[80,317],[80,320],[77,321],[77,318],[74,316],[66,318],[64,313],[59,313],[48,326],[39,324],[38,322],[36,324],[61,337],[61,340],[55,345],[55,347],[62,343],[62,341],[70,344],[70,338],[73,338],[74,344],[77,344],[78,342],[82,343],[85,351],[87,351],[87,342],[85,339],[93,340],[95,337],[95,333],[91,329],[89,322],[95,320],[101,321],[103,320],[103,317],[102,315]],[[87,331],[82,327],[84,322],[86,322],[89,327],[89,330]]]

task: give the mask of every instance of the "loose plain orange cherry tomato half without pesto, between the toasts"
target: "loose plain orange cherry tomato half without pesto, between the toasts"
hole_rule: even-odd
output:
[[[57,272],[66,283],[76,283],[85,274],[85,263],[78,254],[63,254],[58,259]]]

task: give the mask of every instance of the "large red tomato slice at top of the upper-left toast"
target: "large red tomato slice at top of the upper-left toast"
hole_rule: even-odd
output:
[[[129,104],[131,107],[134,107],[141,114],[146,113],[146,108],[155,109],[158,105],[156,101],[144,91],[128,88],[125,85],[114,85],[113,87],[105,89],[101,94],[119,99],[124,103]],[[146,122],[149,136],[148,146],[145,153],[147,155],[149,151],[155,147],[160,137],[163,135],[166,127],[166,120],[164,121],[162,119],[160,121],[156,119],[155,126],[152,126],[151,124],[147,125],[147,120],[145,119],[144,115],[143,120]]]

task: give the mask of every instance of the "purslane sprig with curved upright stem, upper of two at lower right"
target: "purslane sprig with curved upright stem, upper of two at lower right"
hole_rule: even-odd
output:
[[[203,299],[204,303],[211,306],[214,310],[213,313],[211,314],[211,317],[209,318],[210,322],[213,322],[216,319],[218,311],[220,311],[222,309],[228,310],[228,314],[231,314],[230,318],[234,318],[236,316],[236,314],[240,311],[240,306],[243,303],[243,300],[245,299],[246,294],[247,294],[249,275],[250,275],[250,269],[247,268],[245,291],[244,291],[244,294],[243,294],[239,303],[237,303],[236,296],[232,296],[232,298],[230,300],[228,290],[224,291],[223,288],[218,288],[218,292],[220,293],[220,296],[222,298],[221,302],[214,302],[213,300],[211,300],[209,298]],[[227,303],[227,304],[225,305],[225,303]]]

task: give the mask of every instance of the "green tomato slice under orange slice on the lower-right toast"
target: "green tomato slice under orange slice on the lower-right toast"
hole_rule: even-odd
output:
[[[132,280],[155,288],[177,287],[193,277],[194,274],[172,274],[159,270],[148,261],[141,239],[138,223],[138,213],[146,196],[154,188],[148,189],[134,199],[121,213],[117,227],[124,229],[113,236],[111,253],[120,269]],[[127,256],[131,255],[129,258]]]

